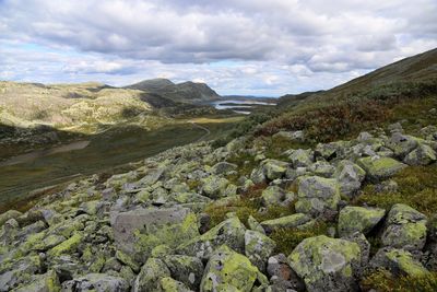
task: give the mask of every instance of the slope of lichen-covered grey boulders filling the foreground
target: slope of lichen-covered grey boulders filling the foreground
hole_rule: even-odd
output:
[[[435,126],[311,149],[294,147],[305,131],[272,139],[280,156],[262,137],[189,144],[1,214],[0,291],[436,288],[436,189],[428,198],[410,177],[409,206],[398,183],[435,171]]]

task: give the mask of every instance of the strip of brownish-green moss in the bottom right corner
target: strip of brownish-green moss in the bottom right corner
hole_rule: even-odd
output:
[[[437,272],[429,272],[420,277],[394,277],[389,271],[379,269],[366,275],[362,280],[364,291],[376,290],[378,292],[428,292],[437,291]]]

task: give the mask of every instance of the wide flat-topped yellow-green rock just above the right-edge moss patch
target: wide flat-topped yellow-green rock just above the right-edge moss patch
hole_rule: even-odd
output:
[[[374,182],[389,178],[406,167],[405,164],[397,160],[379,156],[359,159],[358,165],[366,171],[367,176]]]

